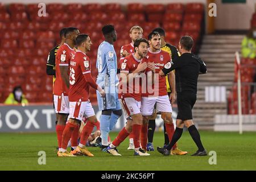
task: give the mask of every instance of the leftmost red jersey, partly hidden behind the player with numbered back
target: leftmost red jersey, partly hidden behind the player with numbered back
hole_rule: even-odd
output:
[[[60,66],[69,67],[70,60],[73,56],[75,56],[75,53],[75,50],[69,47],[66,43],[60,46],[56,53],[56,80],[53,87],[53,94],[56,96],[60,96],[62,93],[64,96],[68,96],[68,88],[65,82],[62,80]],[[69,72],[67,74],[69,74]]]

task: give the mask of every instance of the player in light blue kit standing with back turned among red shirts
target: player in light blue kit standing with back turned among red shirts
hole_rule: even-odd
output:
[[[102,151],[108,147],[108,135],[122,115],[121,104],[118,101],[117,55],[113,43],[117,40],[117,32],[113,25],[102,28],[104,42],[97,52],[96,67],[98,69],[97,84],[105,90],[106,96],[97,92],[98,109],[102,111],[100,118]]]

